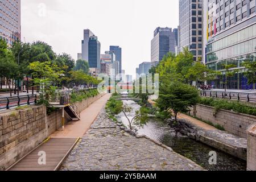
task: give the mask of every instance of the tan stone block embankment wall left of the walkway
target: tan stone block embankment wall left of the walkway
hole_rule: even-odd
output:
[[[102,97],[88,98],[77,102],[81,112]],[[68,122],[68,117],[65,117]],[[0,171],[5,170],[22,158],[49,135],[61,127],[61,110],[46,114],[45,106],[31,106],[22,110],[8,110],[0,113]]]

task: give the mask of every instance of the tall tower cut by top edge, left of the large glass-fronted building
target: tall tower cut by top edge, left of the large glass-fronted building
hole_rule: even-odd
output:
[[[195,61],[203,61],[204,55],[203,7],[203,0],[179,0],[179,49],[182,51],[184,47],[188,47]]]

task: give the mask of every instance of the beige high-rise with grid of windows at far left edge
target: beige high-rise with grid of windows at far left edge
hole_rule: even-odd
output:
[[[0,1],[0,39],[9,46],[20,40],[20,1]]]

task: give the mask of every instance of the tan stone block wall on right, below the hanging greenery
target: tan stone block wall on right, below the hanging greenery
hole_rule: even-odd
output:
[[[215,125],[221,125],[229,133],[242,138],[247,138],[247,129],[256,123],[256,117],[253,115],[223,109],[215,113],[214,107],[206,105],[196,105],[190,114],[204,121],[210,121]]]

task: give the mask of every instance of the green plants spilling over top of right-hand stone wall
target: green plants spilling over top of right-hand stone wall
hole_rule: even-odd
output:
[[[199,101],[202,105],[212,106],[214,107],[215,113],[217,113],[220,109],[225,110],[233,110],[237,113],[249,114],[256,116],[256,108],[250,107],[238,101],[227,101],[227,100],[218,100],[214,98],[201,98]]]

